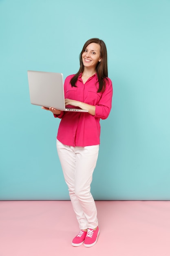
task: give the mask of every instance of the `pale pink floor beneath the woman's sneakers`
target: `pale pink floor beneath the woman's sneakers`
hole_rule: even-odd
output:
[[[70,201],[0,201],[0,256],[170,256],[169,201],[96,201],[97,244],[72,247]]]

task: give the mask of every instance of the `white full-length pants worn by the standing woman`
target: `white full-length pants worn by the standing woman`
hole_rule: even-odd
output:
[[[97,209],[90,190],[99,145],[73,147],[57,140],[57,152],[79,228],[94,229],[98,226]]]

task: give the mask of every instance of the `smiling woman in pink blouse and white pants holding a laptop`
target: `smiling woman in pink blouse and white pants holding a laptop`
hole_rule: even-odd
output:
[[[65,105],[88,112],[42,108],[61,118],[57,152],[80,228],[72,245],[84,243],[85,247],[91,247],[99,234],[97,209],[90,191],[100,144],[99,120],[106,119],[110,113],[113,89],[108,78],[106,45],[102,40],[88,40],[79,57],[79,71],[66,77],[64,82]]]

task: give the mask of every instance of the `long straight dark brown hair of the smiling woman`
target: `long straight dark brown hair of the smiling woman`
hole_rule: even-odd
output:
[[[107,49],[104,41],[100,40],[99,38],[91,38],[84,44],[82,52],[79,55],[79,62],[80,62],[79,71],[72,77],[70,83],[72,87],[76,87],[75,83],[77,82],[79,74],[83,73],[84,71],[82,54],[90,43],[97,43],[100,45],[101,61],[98,62],[96,66],[96,73],[97,73],[98,82],[99,82],[99,89],[97,90],[97,92],[103,92],[106,88],[106,80],[108,77]]]

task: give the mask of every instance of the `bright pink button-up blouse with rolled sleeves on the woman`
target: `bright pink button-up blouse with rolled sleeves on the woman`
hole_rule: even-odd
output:
[[[100,144],[100,119],[106,119],[112,106],[112,81],[108,78],[106,90],[97,92],[99,83],[97,74],[91,76],[84,84],[81,74],[77,87],[71,87],[70,80],[74,75],[67,76],[64,82],[65,99],[73,99],[95,106],[95,116],[88,112],[62,111],[54,117],[61,118],[57,139],[69,146],[92,146]],[[66,106],[66,108],[75,108]]]

